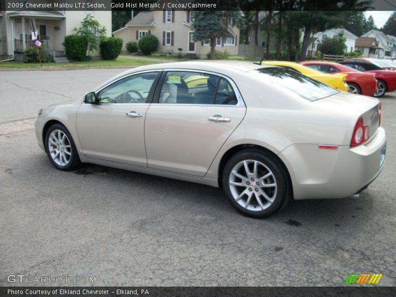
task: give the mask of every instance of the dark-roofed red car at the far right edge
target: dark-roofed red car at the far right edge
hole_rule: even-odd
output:
[[[340,64],[362,72],[374,73],[377,79],[375,97],[382,97],[385,93],[396,90],[396,71],[386,70],[366,58],[351,58],[341,61]]]

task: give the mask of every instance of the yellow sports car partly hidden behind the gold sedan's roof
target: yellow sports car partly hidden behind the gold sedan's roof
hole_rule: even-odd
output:
[[[347,74],[344,73],[336,73],[336,74],[327,74],[321,71],[314,70],[312,68],[303,66],[301,64],[295,62],[286,62],[286,61],[263,61],[263,63],[268,65],[280,66],[292,70],[296,70],[297,72],[309,76],[313,79],[316,79],[322,83],[329,85],[330,87],[339,89],[341,91],[348,91],[348,85],[346,83]]]

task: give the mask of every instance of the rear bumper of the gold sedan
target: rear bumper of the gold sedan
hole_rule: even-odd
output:
[[[375,180],[384,165],[385,151],[385,130],[380,127],[366,145],[337,150],[293,145],[279,157],[289,170],[295,199],[345,198]]]

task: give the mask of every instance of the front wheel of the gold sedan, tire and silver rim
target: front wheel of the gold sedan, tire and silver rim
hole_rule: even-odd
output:
[[[60,170],[73,170],[80,165],[74,141],[69,131],[60,124],[54,124],[47,130],[45,146],[49,160]]]

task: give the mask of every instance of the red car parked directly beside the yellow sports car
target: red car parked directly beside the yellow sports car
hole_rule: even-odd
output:
[[[374,96],[377,91],[377,80],[374,73],[364,73],[359,70],[341,65],[339,63],[325,61],[300,62],[309,68],[325,73],[345,73],[347,74],[348,92],[353,94]]]

